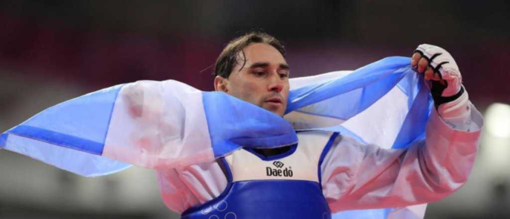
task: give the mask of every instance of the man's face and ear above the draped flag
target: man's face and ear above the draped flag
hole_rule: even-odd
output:
[[[243,52],[239,52],[237,65],[228,78],[215,78],[216,91],[226,92],[283,116],[289,96],[289,66],[284,57],[276,48],[265,43],[250,44],[243,51],[244,56]]]

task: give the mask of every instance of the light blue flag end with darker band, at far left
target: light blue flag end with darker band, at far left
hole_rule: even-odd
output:
[[[42,111],[3,133],[0,148],[83,176],[106,175],[131,167],[99,156],[121,87],[99,90]],[[6,145],[10,138],[16,141]]]

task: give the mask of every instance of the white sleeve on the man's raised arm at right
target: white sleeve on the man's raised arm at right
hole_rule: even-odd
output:
[[[425,141],[382,149],[339,136],[322,163],[324,196],[333,212],[402,207],[442,199],[459,189],[473,167],[483,119],[467,100],[431,113]],[[459,106],[461,105],[461,106]],[[447,109],[451,109],[446,107]],[[446,115],[445,112],[450,112]]]

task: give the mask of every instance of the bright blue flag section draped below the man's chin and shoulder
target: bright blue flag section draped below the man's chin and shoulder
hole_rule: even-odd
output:
[[[203,92],[215,157],[240,147],[274,148],[297,142],[292,125],[274,113],[220,92]]]

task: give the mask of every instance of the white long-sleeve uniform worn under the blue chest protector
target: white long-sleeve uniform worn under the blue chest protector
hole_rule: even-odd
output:
[[[471,172],[483,119],[467,93],[438,110],[427,123],[425,142],[407,149],[339,135],[321,166],[331,211],[428,203],[460,188]],[[176,212],[218,197],[227,185],[217,162],[158,169],[158,178],[163,201]]]

